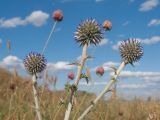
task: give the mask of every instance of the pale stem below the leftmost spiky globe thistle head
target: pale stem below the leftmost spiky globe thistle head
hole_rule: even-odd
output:
[[[37,78],[36,75],[32,76],[32,82],[33,82],[33,96],[34,96],[34,102],[35,102],[35,112],[37,114],[38,120],[42,120],[39,102],[38,102],[38,93],[37,93]]]

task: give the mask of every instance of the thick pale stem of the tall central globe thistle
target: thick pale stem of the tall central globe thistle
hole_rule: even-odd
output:
[[[76,87],[79,84],[80,76],[81,76],[81,73],[82,73],[82,69],[84,67],[84,64],[85,64],[85,61],[86,61],[86,58],[87,58],[87,48],[88,48],[88,45],[85,44],[83,46],[82,56],[81,56],[81,60],[80,60],[80,65],[78,66],[77,75],[76,75],[76,79],[75,79],[75,82],[74,82],[74,85]],[[71,113],[72,106],[73,106],[74,93],[75,93],[74,89],[70,91],[70,100],[69,100],[69,103],[68,103],[68,107],[67,107],[67,110],[66,110],[66,113],[65,113],[64,120],[69,120],[70,113]]]

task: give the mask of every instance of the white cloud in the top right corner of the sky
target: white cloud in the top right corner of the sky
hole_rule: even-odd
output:
[[[158,6],[159,0],[146,0],[144,3],[140,5],[139,11],[149,11],[154,7]]]

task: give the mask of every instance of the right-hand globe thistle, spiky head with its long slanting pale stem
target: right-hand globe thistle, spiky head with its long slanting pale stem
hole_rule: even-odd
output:
[[[91,105],[81,114],[81,116],[78,118],[78,120],[83,120],[84,117],[91,111],[91,109],[95,106],[95,104],[104,96],[106,92],[110,90],[113,84],[116,83],[116,79],[121,73],[121,71],[124,69],[124,67],[128,63],[134,63],[143,55],[143,49],[140,44],[140,42],[136,39],[129,39],[127,41],[123,41],[121,45],[119,46],[119,51],[121,54],[121,57],[123,59],[122,63],[120,64],[119,68],[115,70],[114,75],[111,77],[108,84],[105,86],[105,88],[100,92],[100,94],[94,99],[94,101],[91,102]]]

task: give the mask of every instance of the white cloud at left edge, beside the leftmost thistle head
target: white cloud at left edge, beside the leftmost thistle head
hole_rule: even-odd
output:
[[[4,68],[8,68],[8,69],[13,69],[13,68],[23,69],[24,68],[23,61],[20,58],[16,56],[12,56],[12,55],[5,57],[0,62],[0,66]]]

